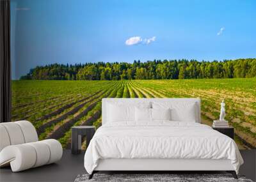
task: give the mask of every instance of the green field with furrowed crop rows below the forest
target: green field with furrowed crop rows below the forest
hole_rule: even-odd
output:
[[[235,127],[239,148],[256,148],[256,78],[196,80],[12,82],[12,121],[26,119],[40,139],[70,148],[70,128],[101,123],[102,98],[201,98],[202,123],[218,119],[225,99],[226,119]]]

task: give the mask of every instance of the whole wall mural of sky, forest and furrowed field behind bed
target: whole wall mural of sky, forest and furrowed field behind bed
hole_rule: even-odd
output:
[[[237,145],[256,147],[254,1],[74,2],[11,0],[12,121],[70,148],[102,98],[200,98],[210,126],[225,100]]]

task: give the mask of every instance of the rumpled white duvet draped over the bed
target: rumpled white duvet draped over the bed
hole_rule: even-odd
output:
[[[106,158],[229,159],[237,173],[243,164],[230,137],[207,125],[176,121],[100,126],[84,155],[86,171],[92,174]]]

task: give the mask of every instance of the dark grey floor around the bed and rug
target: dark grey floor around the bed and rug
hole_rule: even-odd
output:
[[[244,164],[239,174],[256,181],[256,149],[241,150],[241,155]],[[10,167],[0,169],[0,181],[74,181],[78,174],[86,173],[83,158],[84,153],[72,155],[70,150],[64,150],[62,159],[57,163],[22,172],[12,172]]]

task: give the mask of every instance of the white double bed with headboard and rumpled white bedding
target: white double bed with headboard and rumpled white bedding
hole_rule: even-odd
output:
[[[172,115],[189,121],[130,121],[131,110],[127,111],[129,121],[109,121],[109,114],[120,114],[118,107],[147,103],[153,109],[159,105],[170,105],[173,110],[185,107]],[[111,105],[118,106],[115,112],[109,110]],[[193,112],[186,110],[189,105]],[[102,126],[84,155],[90,178],[97,171],[229,171],[237,178],[241,164],[243,158],[234,140],[200,124],[198,98],[104,98]]]

